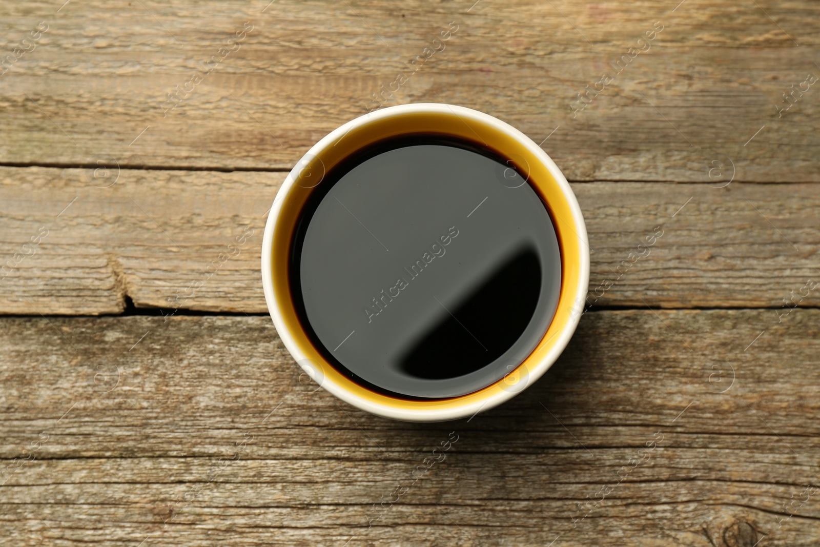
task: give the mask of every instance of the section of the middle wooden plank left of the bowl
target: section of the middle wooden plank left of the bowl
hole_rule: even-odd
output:
[[[92,169],[0,168],[4,258],[20,261],[0,280],[3,312],[118,313],[126,296],[140,307],[266,311],[262,231],[285,174],[109,172],[99,182]],[[24,248],[41,226],[48,235]],[[238,254],[228,250],[236,238]],[[223,252],[234,256],[221,262]]]

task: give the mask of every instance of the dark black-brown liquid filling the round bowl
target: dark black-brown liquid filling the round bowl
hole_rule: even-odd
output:
[[[327,361],[406,399],[503,378],[543,337],[561,282],[549,213],[512,162],[432,137],[382,143],[331,171],[289,267]]]

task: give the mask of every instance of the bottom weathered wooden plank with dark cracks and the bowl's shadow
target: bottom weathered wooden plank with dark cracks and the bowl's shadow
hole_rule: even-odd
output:
[[[777,321],[772,310],[590,312],[517,398],[469,422],[408,424],[300,383],[266,317],[7,318],[0,536],[816,545],[818,497],[801,493],[820,482],[820,310]],[[450,431],[444,461],[408,479]],[[631,458],[644,461],[623,471]],[[408,491],[368,529],[398,484]]]

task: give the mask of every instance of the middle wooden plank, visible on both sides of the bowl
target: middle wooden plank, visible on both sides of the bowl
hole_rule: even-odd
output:
[[[100,183],[91,170],[0,167],[2,258],[20,261],[2,271],[0,312],[119,313],[125,296],[139,308],[266,312],[262,230],[284,176],[121,169]],[[572,189],[589,231],[589,304],[818,305],[817,291],[801,290],[820,280],[820,194],[811,184]],[[41,226],[48,235],[24,248]],[[239,254],[210,274],[236,238],[245,241]],[[647,238],[654,245],[639,248]],[[792,291],[801,295],[791,300]]]

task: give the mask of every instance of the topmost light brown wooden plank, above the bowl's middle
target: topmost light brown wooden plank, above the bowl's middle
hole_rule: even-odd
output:
[[[385,105],[477,108],[536,143],[560,126],[543,146],[570,180],[699,181],[719,157],[738,180],[820,180],[813,2],[61,3],[0,6],[3,55],[48,25],[0,76],[2,164],[289,168],[455,21]],[[166,112],[175,86],[189,93]]]

